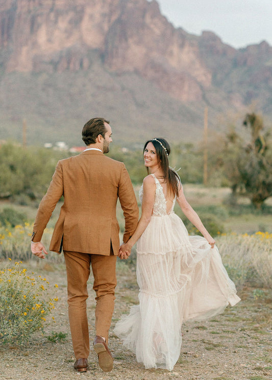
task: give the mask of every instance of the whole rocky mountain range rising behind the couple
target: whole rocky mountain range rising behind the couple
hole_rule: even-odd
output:
[[[0,0],[0,139],[80,143],[89,118],[121,142],[195,140],[250,104],[272,116],[272,47],[175,29],[155,0]],[[227,116],[228,115],[228,116]],[[231,121],[229,121],[231,122]]]

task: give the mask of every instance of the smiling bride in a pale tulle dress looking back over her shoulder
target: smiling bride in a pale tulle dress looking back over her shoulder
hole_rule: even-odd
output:
[[[170,146],[157,138],[145,143],[144,178],[139,197],[142,214],[134,234],[120,247],[127,258],[137,241],[139,305],[116,323],[114,332],[145,368],[172,370],[180,356],[181,326],[206,319],[240,301],[215,241],[183,194],[178,174],[169,168]],[[203,234],[188,236],[174,213],[178,202]]]

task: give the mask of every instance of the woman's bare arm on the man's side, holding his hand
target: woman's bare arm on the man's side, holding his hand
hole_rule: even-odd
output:
[[[148,226],[152,210],[155,202],[155,192],[156,192],[156,183],[154,178],[149,175],[143,180],[143,196],[142,196],[142,213],[141,218],[139,219],[138,225],[134,234],[131,238],[124,244],[121,245],[119,249],[118,256],[122,258],[127,258],[126,256],[130,256],[131,249],[139,239],[143,231]]]

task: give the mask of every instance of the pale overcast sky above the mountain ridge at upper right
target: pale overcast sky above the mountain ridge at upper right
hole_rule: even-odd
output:
[[[266,40],[272,45],[272,0],[157,0],[174,26],[201,35],[212,31],[239,48]]]

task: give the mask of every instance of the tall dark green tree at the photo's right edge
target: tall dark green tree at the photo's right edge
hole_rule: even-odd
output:
[[[224,168],[233,194],[250,198],[260,209],[272,196],[272,144],[270,133],[264,132],[263,119],[255,113],[246,114],[243,120],[246,137],[232,129],[225,138]]]

